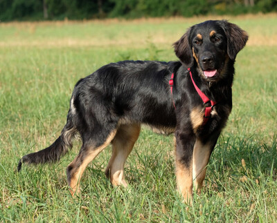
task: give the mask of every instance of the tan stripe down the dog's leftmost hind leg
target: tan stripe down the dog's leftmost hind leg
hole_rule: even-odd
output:
[[[87,165],[104,149],[106,148],[112,139],[114,139],[114,136],[116,135],[116,130],[114,130],[109,137],[107,137],[107,140],[104,144],[97,148],[87,148],[86,151],[87,155],[85,155],[84,159],[80,160],[80,153],[69,166],[71,168],[75,168],[73,175],[70,176],[70,182],[69,182],[69,188],[71,195],[75,195],[75,193],[80,193],[80,180],[82,177],[82,174],[84,173],[85,168]]]

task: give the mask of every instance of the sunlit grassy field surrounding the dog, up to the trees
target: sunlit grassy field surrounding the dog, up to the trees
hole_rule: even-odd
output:
[[[143,127],[127,159],[129,188],[105,177],[111,147],[72,198],[66,166],[23,166],[22,155],[60,135],[78,79],[125,59],[177,60],[172,43],[189,26],[229,19],[249,33],[238,54],[233,110],[192,206],[176,190],[173,136]],[[276,222],[277,14],[132,21],[0,23],[0,222]]]

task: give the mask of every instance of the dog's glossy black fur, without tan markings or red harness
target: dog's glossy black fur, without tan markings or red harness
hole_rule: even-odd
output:
[[[211,30],[215,30],[215,37],[220,40],[208,36]],[[201,44],[195,40],[197,33],[204,35]],[[232,108],[235,56],[247,39],[247,33],[233,23],[206,21],[189,28],[173,44],[180,61],[120,61],[80,79],[73,90],[67,122],[60,137],[48,148],[22,157],[18,171],[22,163],[58,161],[71,148],[71,139],[76,133],[80,134],[84,147],[86,144],[98,147],[122,122],[147,124],[163,133],[175,132],[177,161],[188,164],[195,139],[215,144],[226,124]],[[213,63],[202,61],[206,52],[212,55]],[[202,92],[217,101],[217,115],[197,129],[193,129],[190,113],[199,106],[204,109],[204,104],[187,68],[191,68],[193,79]],[[221,69],[220,75],[204,77],[204,70],[211,69]],[[172,72],[175,76],[171,95],[168,81]]]

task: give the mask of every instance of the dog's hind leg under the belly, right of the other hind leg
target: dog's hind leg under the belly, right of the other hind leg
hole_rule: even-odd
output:
[[[107,177],[110,177],[111,184],[114,186],[127,186],[124,177],[124,164],[139,137],[140,130],[139,124],[123,124],[118,128],[116,136],[111,142],[112,154],[105,173]]]

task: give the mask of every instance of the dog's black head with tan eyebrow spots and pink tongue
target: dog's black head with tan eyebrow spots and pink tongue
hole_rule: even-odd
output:
[[[197,65],[207,81],[226,75],[226,66],[247,43],[247,32],[228,21],[205,21],[192,26],[173,43],[181,63],[190,68]]]

